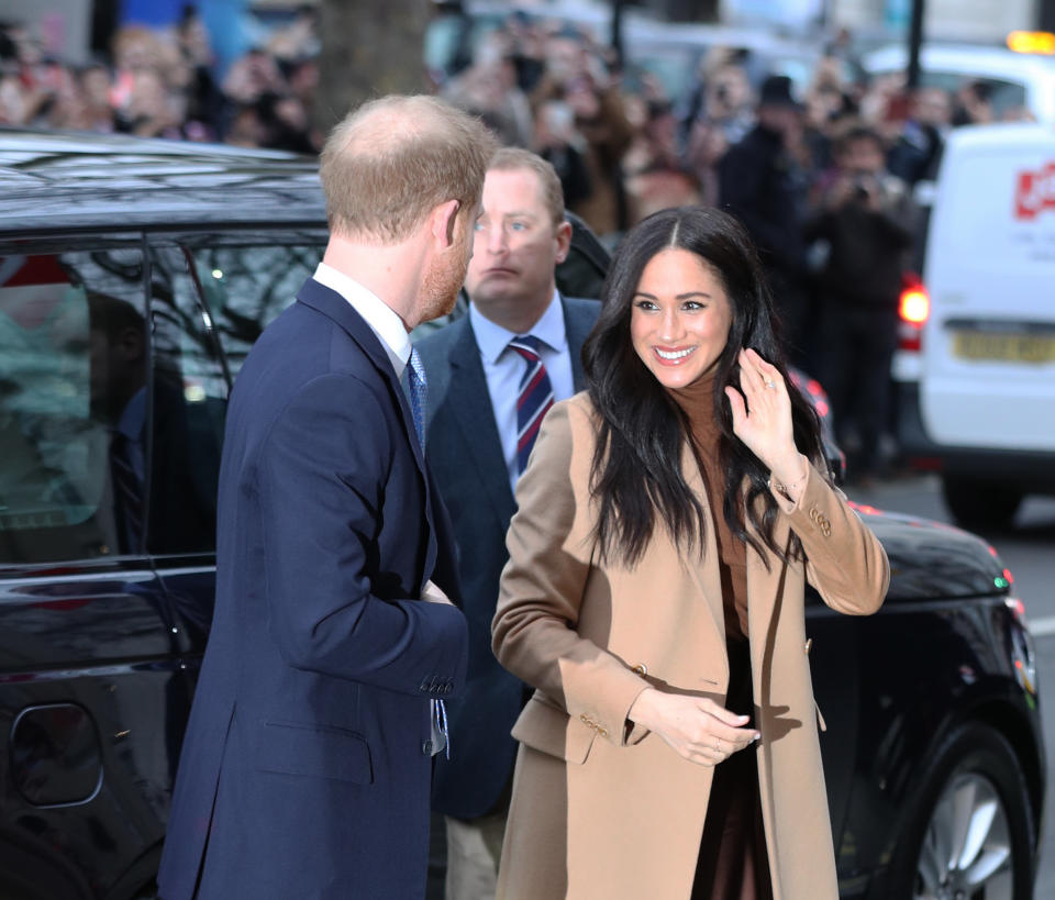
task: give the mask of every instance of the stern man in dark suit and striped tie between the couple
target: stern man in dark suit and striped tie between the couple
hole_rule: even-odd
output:
[[[454,522],[469,620],[468,680],[449,704],[454,752],[438,760],[433,787],[433,809],[446,816],[446,900],[493,898],[497,886],[517,755],[510,731],[524,701],[522,682],[491,653],[506,530],[533,429],[548,403],[582,388],[582,342],[600,311],[556,288],[554,268],[570,241],[553,166],[528,151],[499,151],[484,182],[468,314],[418,344],[431,388],[430,462]],[[518,349],[521,342],[537,359]],[[532,378],[524,388],[529,373],[541,396]]]

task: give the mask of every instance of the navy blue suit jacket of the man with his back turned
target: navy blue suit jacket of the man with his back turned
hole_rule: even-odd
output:
[[[366,322],[309,280],[232,391],[216,607],[165,900],[422,897],[430,698],[462,689],[454,545]]]

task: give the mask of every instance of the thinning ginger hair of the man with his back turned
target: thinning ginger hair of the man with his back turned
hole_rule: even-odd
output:
[[[330,230],[379,243],[409,237],[437,205],[471,210],[495,138],[434,97],[382,97],[330,133],[319,166]]]

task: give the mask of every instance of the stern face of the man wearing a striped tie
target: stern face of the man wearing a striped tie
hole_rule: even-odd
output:
[[[556,223],[538,176],[490,169],[476,220],[465,289],[487,319],[510,327],[533,324],[553,299],[554,267],[568,254],[571,229]]]

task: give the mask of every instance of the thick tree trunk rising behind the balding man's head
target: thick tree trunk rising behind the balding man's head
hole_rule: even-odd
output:
[[[422,93],[430,0],[322,0],[314,125],[329,133],[353,107],[387,93]]]

